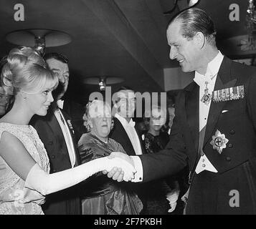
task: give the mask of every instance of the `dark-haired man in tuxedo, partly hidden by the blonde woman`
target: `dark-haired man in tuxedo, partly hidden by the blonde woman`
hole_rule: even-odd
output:
[[[70,169],[80,164],[77,152],[75,128],[72,127],[70,115],[62,110],[60,98],[67,90],[69,67],[67,58],[60,54],[46,54],[45,60],[59,77],[59,86],[54,92],[54,101],[46,116],[34,115],[31,124],[44,143],[50,162],[50,173]],[[47,196],[43,205],[46,215],[78,215],[80,214],[79,187],[70,187]]]

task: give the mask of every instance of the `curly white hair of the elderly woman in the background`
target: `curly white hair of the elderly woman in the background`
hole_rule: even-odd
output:
[[[107,107],[110,112],[111,108],[110,105],[107,102],[103,102],[102,100],[94,99],[92,102],[88,102],[85,107],[85,114],[83,115],[82,119],[84,120],[84,126],[87,129],[87,132],[90,132],[90,119],[92,118],[91,112],[93,110],[96,110],[99,105],[103,105],[104,107]],[[111,130],[114,127],[114,122],[111,120]]]

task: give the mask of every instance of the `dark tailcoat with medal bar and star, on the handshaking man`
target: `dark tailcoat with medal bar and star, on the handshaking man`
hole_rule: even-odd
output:
[[[256,69],[224,57],[214,90],[240,85],[245,87],[244,99],[212,102],[209,109],[203,151],[218,173],[201,172],[191,183],[192,190],[198,187],[198,193],[190,190],[189,200],[195,198],[195,195],[200,195],[199,184],[201,188],[204,187],[201,180],[207,181],[205,179],[208,175],[211,176],[209,179],[215,182],[212,190],[205,187],[204,195],[209,199],[217,195],[222,198],[217,192],[221,191],[220,186],[226,189],[227,197],[216,203],[215,213],[234,213],[234,208],[228,206],[228,193],[234,189],[240,191],[240,198],[244,198],[243,204],[237,208],[237,213],[256,213]],[[227,112],[222,112],[223,110]],[[210,144],[217,130],[229,140],[221,154]],[[176,99],[176,116],[166,149],[155,155],[141,156],[143,181],[174,174],[187,162],[189,170],[193,172],[199,160],[198,145],[199,86],[192,82]],[[231,183],[233,185],[230,185]],[[219,190],[214,190],[216,187]],[[193,213],[193,210],[191,212]]]

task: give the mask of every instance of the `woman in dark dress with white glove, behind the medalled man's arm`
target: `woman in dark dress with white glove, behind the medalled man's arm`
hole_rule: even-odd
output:
[[[169,134],[161,131],[161,127],[166,123],[166,110],[158,106],[153,106],[151,110],[146,110],[144,123],[148,128],[144,140],[146,152],[156,153],[163,150],[169,142]],[[166,179],[148,182],[145,214],[160,215],[171,213],[176,208],[178,198],[179,182],[174,178],[166,177]]]

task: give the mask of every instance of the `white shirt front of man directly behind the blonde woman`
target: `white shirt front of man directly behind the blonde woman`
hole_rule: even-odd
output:
[[[65,138],[67,151],[70,156],[71,167],[74,167],[75,166],[75,147],[72,141],[72,135],[70,133],[70,129],[65,120],[65,117],[62,115],[62,112],[60,111],[59,108],[55,109],[54,115],[57,118],[57,121],[59,122],[60,128],[62,129],[62,134]]]

